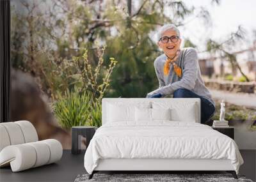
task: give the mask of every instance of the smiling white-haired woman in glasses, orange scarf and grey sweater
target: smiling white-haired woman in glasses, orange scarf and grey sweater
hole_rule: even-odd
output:
[[[157,45],[164,52],[154,61],[159,88],[148,93],[147,98],[200,98],[201,123],[205,123],[214,115],[215,103],[202,80],[196,50],[180,49],[180,42],[180,31],[173,24],[157,32]]]

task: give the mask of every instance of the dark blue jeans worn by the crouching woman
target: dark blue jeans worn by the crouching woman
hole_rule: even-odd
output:
[[[197,95],[188,89],[180,88],[174,91],[173,98],[200,98],[201,100],[201,123],[204,124],[214,115],[216,108],[205,97]]]

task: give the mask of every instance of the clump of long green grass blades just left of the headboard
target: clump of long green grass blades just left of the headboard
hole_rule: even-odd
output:
[[[58,101],[53,103],[54,114],[63,128],[72,126],[102,125],[101,100],[93,101],[90,91],[79,91],[75,86],[72,91],[65,91],[58,96]]]

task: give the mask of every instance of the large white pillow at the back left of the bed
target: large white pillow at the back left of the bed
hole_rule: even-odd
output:
[[[150,108],[150,102],[107,103],[107,122],[135,121],[135,107]]]

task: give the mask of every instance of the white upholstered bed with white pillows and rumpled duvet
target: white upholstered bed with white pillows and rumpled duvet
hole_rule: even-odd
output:
[[[150,121],[147,114],[138,121],[148,105]],[[130,110],[122,113],[123,106]],[[141,108],[136,121],[133,106]],[[166,108],[168,120],[160,113]],[[102,126],[84,155],[90,178],[97,171],[229,171],[237,178],[241,164],[234,140],[200,124],[199,98],[103,98]]]

